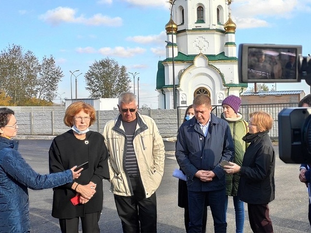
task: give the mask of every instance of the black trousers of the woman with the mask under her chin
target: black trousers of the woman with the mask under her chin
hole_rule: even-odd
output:
[[[99,233],[100,229],[98,221],[100,219],[100,211],[94,213],[86,213],[81,217],[81,226],[83,233]],[[78,233],[79,232],[79,217],[59,219],[59,226],[62,233]]]

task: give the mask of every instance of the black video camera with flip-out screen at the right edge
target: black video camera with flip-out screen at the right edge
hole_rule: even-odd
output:
[[[301,82],[311,85],[311,57],[300,45],[241,44],[242,83]],[[284,108],[278,114],[279,157],[285,163],[311,163],[311,108]]]

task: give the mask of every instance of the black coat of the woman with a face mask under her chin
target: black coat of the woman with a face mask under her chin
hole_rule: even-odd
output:
[[[65,171],[89,161],[89,168],[81,171],[81,176],[73,182],[86,185],[92,181],[96,184],[96,193],[86,204],[74,206],[70,201],[76,195],[76,192],[71,189],[73,182],[54,188],[53,217],[68,219],[84,216],[84,213],[101,211],[103,206],[102,179],[109,179],[107,159],[108,150],[104,144],[104,137],[97,132],[87,132],[85,140],[77,139],[72,130],[54,138],[49,150],[50,173]]]

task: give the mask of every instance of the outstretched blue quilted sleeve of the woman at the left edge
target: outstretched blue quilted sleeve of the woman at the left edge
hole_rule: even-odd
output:
[[[16,150],[11,150],[2,159],[3,170],[16,181],[33,190],[49,189],[72,182],[72,171],[40,175],[21,157]]]

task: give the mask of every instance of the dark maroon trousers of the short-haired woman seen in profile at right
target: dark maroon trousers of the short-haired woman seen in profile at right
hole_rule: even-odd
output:
[[[273,233],[268,204],[247,204],[249,224],[253,232]]]

